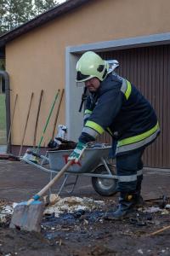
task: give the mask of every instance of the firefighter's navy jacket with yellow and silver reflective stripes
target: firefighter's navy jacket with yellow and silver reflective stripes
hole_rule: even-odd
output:
[[[143,148],[160,132],[150,102],[116,73],[109,74],[99,90],[89,94],[84,120],[79,141],[88,143],[108,131],[117,141],[116,154]]]

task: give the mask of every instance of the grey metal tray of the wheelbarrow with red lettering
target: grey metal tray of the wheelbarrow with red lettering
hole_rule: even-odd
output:
[[[110,149],[111,146],[105,146],[104,148],[86,148],[82,154],[81,160],[79,160],[77,163],[73,163],[67,172],[93,172],[94,168],[100,164],[102,158],[105,159],[108,157]],[[67,163],[71,152],[72,149],[48,151],[50,169],[54,171],[61,170],[62,167]]]

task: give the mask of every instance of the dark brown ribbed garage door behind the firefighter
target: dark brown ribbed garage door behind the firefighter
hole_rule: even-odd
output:
[[[170,45],[100,53],[120,63],[119,74],[135,84],[156,109],[161,135],[144,153],[144,166],[170,168]],[[111,137],[99,138],[111,143]]]

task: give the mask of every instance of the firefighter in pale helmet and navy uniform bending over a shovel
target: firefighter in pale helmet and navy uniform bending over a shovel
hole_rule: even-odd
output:
[[[142,155],[160,133],[156,113],[133,84],[109,73],[108,62],[93,51],[77,61],[77,82],[85,83],[89,96],[82,133],[69,160],[77,162],[87,143],[104,131],[111,134],[120,197],[116,211],[107,212],[106,218],[125,218],[141,200]]]

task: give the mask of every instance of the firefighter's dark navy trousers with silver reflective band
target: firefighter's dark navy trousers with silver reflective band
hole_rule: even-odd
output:
[[[144,148],[139,148],[127,154],[116,156],[117,191],[123,193],[140,191],[143,179],[143,153]]]

